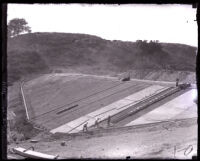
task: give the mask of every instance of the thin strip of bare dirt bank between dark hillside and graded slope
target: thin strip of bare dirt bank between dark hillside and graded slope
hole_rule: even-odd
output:
[[[196,72],[191,71],[175,71],[175,70],[153,70],[153,69],[135,69],[127,70],[127,72],[119,72],[104,68],[91,68],[89,66],[76,67],[73,69],[57,68],[54,73],[83,73],[90,75],[106,75],[112,77],[126,77],[128,72],[133,79],[144,79],[152,81],[175,82],[179,78],[180,82],[196,83]]]

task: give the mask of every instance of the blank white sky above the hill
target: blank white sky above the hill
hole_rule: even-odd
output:
[[[198,44],[196,9],[180,4],[8,4],[8,22],[24,18],[32,32],[96,35],[107,40]]]

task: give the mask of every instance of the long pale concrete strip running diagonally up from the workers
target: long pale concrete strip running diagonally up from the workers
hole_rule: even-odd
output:
[[[118,100],[108,106],[102,107],[96,111],[93,111],[87,115],[84,115],[78,119],[75,119],[71,122],[68,122],[60,127],[57,127],[51,130],[52,133],[63,132],[63,133],[75,133],[81,131],[83,129],[84,124],[87,122],[88,126],[93,126],[95,124],[95,120],[98,118],[100,121],[106,120],[108,116],[115,116],[118,113],[121,113],[127,109],[130,109],[134,105],[137,105],[138,102],[147,100],[149,101],[152,98],[157,98],[159,93],[175,92],[176,88],[171,87],[163,87],[159,85],[153,85],[144,90],[136,92],[132,95],[129,95],[121,100]],[[168,91],[168,92],[167,92]]]

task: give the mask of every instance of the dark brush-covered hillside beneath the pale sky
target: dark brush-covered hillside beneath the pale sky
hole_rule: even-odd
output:
[[[132,70],[134,78],[142,79],[150,78],[145,73],[154,72],[152,80],[164,79],[157,71],[165,75],[187,71],[195,77],[196,66],[196,48],[192,46],[109,41],[69,33],[19,35],[8,41],[7,56],[9,84],[30,75],[62,71],[110,75]]]

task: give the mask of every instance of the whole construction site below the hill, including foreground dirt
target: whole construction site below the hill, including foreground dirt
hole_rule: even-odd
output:
[[[27,121],[40,134],[10,144],[10,158],[197,155],[195,84],[54,73],[22,82],[20,90]]]

